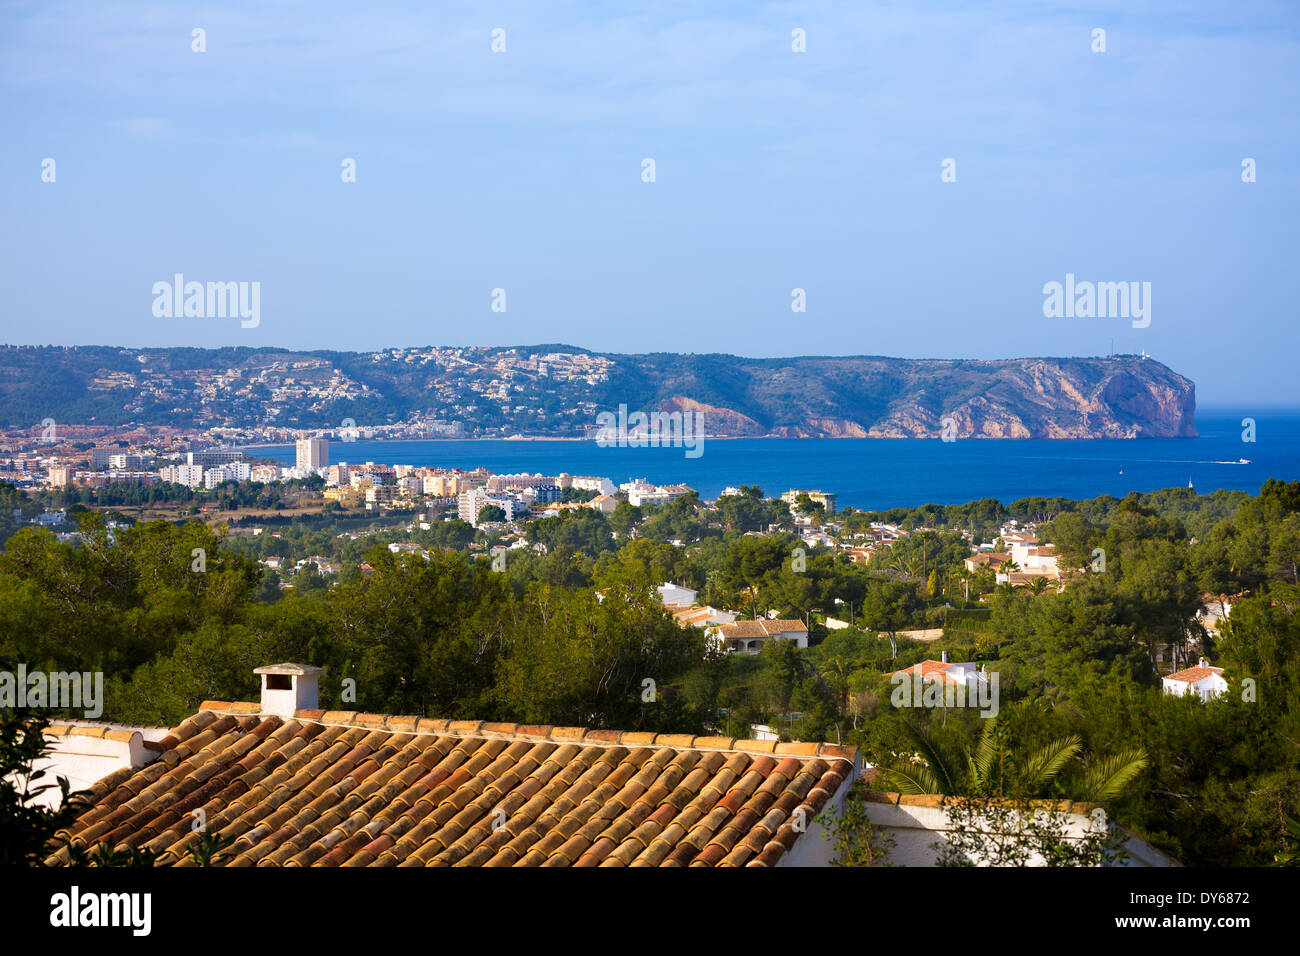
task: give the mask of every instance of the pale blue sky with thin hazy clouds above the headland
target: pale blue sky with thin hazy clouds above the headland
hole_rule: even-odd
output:
[[[1113,341],[1300,405],[1297,40],[1264,1],[0,3],[0,341]],[[177,272],[260,324],[155,317]],[[1066,273],[1150,282],[1149,328],[1044,317]]]

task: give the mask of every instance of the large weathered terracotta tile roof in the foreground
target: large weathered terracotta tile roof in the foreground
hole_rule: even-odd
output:
[[[186,866],[202,809],[230,866],[771,866],[859,769],[835,744],[216,701],[162,748],[66,832]]]

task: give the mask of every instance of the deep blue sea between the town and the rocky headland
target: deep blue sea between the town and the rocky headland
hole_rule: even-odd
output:
[[[1243,440],[1244,418],[1256,440]],[[989,441],[966,438],[734,438],[706,440],[698,458],[685,449],[599,447],[594,441],[354,441],[330,442],[330,462],[382,462],[494,472],[602,475],[620,484],[644,477],[685,483],[712,498],[728,485],[759,485],[768,496],[790,488],[840,496],[838,505],[887,509],[1004,503],[1030,496],[1095,498],[1186,488],[1257,492],[1269,477],[1300,479],[1300,410],[1204,410],[1197,438],[1131,441]],[[292,446],[256,454],[292,464]],[[1249,464],[1240,464],[1239,459]]]

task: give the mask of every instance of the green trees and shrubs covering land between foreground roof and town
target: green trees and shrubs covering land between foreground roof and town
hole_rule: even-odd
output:
[[[500,572],[485,553],[493,538],[462,522],[341,538],[356,525],[315,516],[251,537],[195,522],[109,529],[86,512],[79,542],[22,527],[0,554],[0,667],[101,670],[104,718],[133,723],[256,700],[252,669],[287,659],[329,669],[322,706],[734,736],[766,723],[897,767],[919,739],[936,758],[980,745],[987,721],[972,709],[890,704],[888,672],[949,649],[998,675],[1006,753],[1078,740],[1058,773],[1031,775],[1034,796],[1082,799],[1100,761],[1140,750],[1147,765],[1108,808],[1157,847],[1192,865],[1265,864],[1287,848],[1284,821],[1300,808],[1300,483],[907,510],[900,523],[942,525],[920,567],[909,544],[872,566],[811,549],[802,571],[797,538],[742,529],[779,523],[783,507],[758,489],[738,497],[719,511],[686,497],[536,522],[528,541],[545,554],[511,551]],[[1100,548],[1106,571],[1041,593],[963,579],[956,529],[1010,514],[1045,519],[1062,566],[1083,568]],[[394,540],[428,557],[393,554]],[[273,553],[343,570],[307,570],[281,589],[256,562]],[[814,644],[714,654],[659,606],[664,580],[741,614],[806,620]],[[1217,637],[1197,619],[1202,591],[1249,592]],[[853,627],[828,632],[826,617]],[[900,633],[945,619],[940,644]],[[1167,670],[1175,653],[1225,667],[1231,691],[1164,696],[1154,659]],[[355,700],[342,698],[344,679]]]

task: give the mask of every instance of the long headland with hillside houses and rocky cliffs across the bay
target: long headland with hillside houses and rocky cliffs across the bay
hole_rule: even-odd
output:
[[[0,347],[0,424],[251,429],[460,423],[588,434],[601,411],[696,411],[714,436],[1195,437],[1195,385],[1153,359],[750,359],[564,345],[283,349]],[[946,427],[945,427],[946,425]]]

